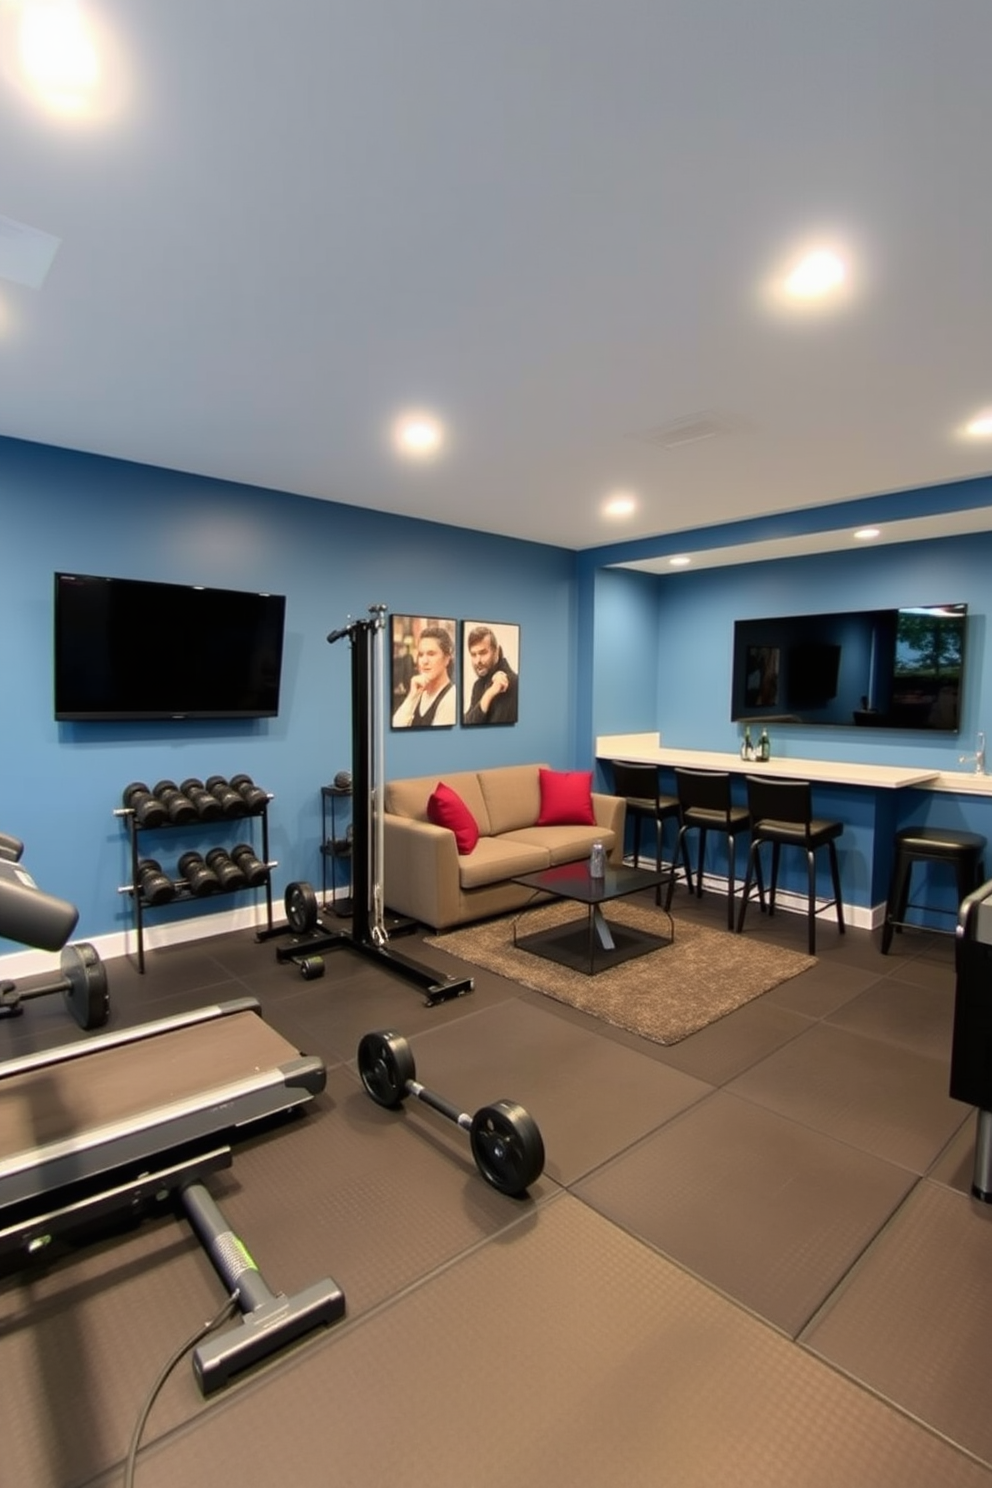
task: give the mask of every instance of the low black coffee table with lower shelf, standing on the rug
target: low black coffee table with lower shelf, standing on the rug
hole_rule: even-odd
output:
[[[519,873],[515,884],[532,888],[535,894],[553,894],[555,899],[571,899],[577,905],[587,905],[589,914],[584,920],[570,920],[564,926],[552,926],[547,930],[535,930],[532,934],[518,936],[519,918],[513,921],[513,945],[534,955],[543,955],[559,966],[568,966],[574,972],[586,976],[596,976],[608,966],[619,966],[622,961],[632,961],[637,955],[647,955],[659,946],[671,945],[675,939],[675,924],[666,915],[669,933],[654,934],[648,930],[635,930],[632,926],[610,924],[602,914],[602,905],[610,899],[623,899],[625,894],[635,894],[640,888],[657,888],[668,884],[674,869],[665,868],[660,872],[647,868],[614,868],[607,863],[602,878],[592,878],[589,863],[561,863],[558,868],[544,868],[540,873]],[[526,911],[522,911],[526,914]],[[666,914],[659,909],[659,914]]]

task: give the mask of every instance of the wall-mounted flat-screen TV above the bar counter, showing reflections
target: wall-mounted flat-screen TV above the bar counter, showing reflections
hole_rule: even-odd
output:
[[[967,604],[736,620],[730,717],[961,728]]]

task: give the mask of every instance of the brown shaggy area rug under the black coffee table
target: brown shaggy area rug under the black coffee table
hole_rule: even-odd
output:
[[[582,914],[582,906],[550,903],[528,909],[522,917],[488,920],[427,936],[425,943],[579,1007],[614,1028],[626,1028],[665,1045],[698,1033],[817,963],[812,955],[684,920],[675,921],[671,945],[611,966],[596,976],[584,976],[513,945],[515,920],[519,936],[567,924]],[[638,930],[671,930],[662,911],[623,899],[610,905],[607,918],[611,924]]]

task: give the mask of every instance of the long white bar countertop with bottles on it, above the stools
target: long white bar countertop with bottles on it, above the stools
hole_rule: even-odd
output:
[[[827,786],[873,786],[895,790],[919,786],[922,790],[949,790],[962,795],[992,796],[992,775],[940,771],[921,765],[858,765],[846,760],[787,759],[772,754],[766,763],[742,760],[739,754],[715,750],[669,748],[657,734],[601,734],[596,759],[632,759],[650,765],[684,765],[687,769],[726,769],[735,774],[779,775],[782,780],[812,780]]]

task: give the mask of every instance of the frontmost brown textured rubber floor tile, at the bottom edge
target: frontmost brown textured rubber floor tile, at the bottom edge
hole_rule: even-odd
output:
[[[989,1488],[562,1195],[152,1445],[141,1488]]]

